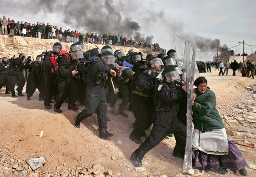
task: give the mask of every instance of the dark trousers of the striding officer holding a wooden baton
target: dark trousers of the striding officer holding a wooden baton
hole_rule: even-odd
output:
[[[103,85],[88,83],[85,90],[85,109],[76,116],[75,124],[80,122],[97,111],[98,131],[107,129],[107,101],[106,90]]]

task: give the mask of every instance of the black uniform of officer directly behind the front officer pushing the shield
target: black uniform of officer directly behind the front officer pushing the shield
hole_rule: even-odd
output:
[[[131,92],[131,108],[135,123],[130,138],[138,139],[152,125],[155,106],[153,102],[153,85],[156,73],[153,69],[145,70]]]

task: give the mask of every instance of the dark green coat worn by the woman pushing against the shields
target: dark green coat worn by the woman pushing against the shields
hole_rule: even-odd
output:
[[[193,122],[195,129],[213,130],[225,128],[222,118],[216,109],[216,96],[209,88],[204,93],[200,93],[197,88],[194,89],[197,97],[193,109]]]

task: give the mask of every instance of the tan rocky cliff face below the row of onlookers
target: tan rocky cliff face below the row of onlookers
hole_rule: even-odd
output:
[[[52,46],[54,43],[59,42],[58,39],[38,39],[32,37],[21,37],[21,36],[8,36],[8,35],[0,35],[0,57],[3,58],[7,56],[8,58],[18,56],[20,53],[24,53],[26,56],[31,56],[32,59],[36,58],[37,55],[41,54],[43,51],[52,50]],[[69,47],[72,43],[63,43],[62,49],[69,51]],[[99,49],[102,49],[104,45],[97,44]],[[85,44],[85,51],[89,49],[93,49],[96,47],[95,44]],[[122,47],[122,46],[111,46],[112,49],[121,50],[128,53],[130,49],[136,49],[134,47]],[[147,54],[151,53],[154,56],[157,56],[157,52],[152,52],[150,49],[136,49],[142,53],[142,56],[145,58]]]

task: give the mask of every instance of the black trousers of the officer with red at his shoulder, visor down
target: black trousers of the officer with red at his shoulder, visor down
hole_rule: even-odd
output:
[[[60,108],[62,103],[68,96],[69,105],[75,105],[76,98],[78,96],[78,87],[77,87],[78,79],[71,79],[70,82],[57,79],[58,82],[58,94],[56,97],[55,108]]]

